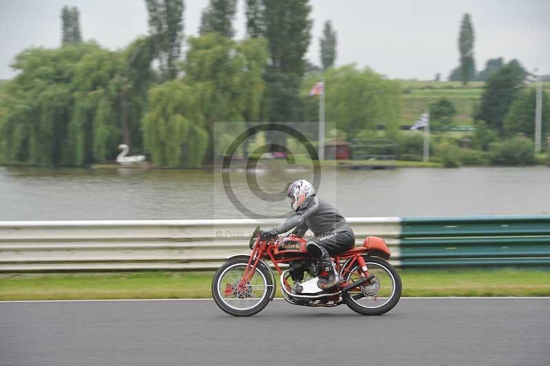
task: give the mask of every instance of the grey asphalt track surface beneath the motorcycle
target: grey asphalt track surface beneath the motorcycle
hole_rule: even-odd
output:
[[[275,300],[0,303],[0,365],[550,365],[550,299],[401,299],[383,316]]]

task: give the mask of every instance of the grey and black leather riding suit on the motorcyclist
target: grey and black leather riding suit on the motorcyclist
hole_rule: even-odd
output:
[[[275,228],[277,234],[292,233],[303,237],[311,229],[314,237],[306,244],[307,252],[320,259],[330,261],[330,256],[345,252],[355,246],[355,236],[346,219],[329,202],[315,195],[307,197],[296,214]]]

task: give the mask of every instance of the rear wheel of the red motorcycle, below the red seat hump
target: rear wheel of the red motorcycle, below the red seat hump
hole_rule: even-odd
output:
[[[367,286],[359,286],[350,292],[342,294],[344,303],[351,310],[362,315],[382,315],[397,304],[401,298],[401,277],[397,270],[388,261],[379,257],[364,257],[366,266],[369,268],[371,279]],[[358,281],[361,269],[359,263],[346,274],[344,279],[351,282]]]

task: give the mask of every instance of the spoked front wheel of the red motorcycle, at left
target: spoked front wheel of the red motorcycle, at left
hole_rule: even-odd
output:
[[[260,312],[272,299],[275,286],[272,274],[261,263],[250,281],[241,283],[248,259],[233,259],[221,266],[212,279],[212,297],[224,312],[233,316],[251,316]]]

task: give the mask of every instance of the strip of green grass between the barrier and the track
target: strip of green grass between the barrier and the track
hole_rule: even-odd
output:
[[[2,275],[0,300],[208,298],[212,275]],[[401,278],[408,297],[550,296],[550,271],[544,270],[403,270]]]

